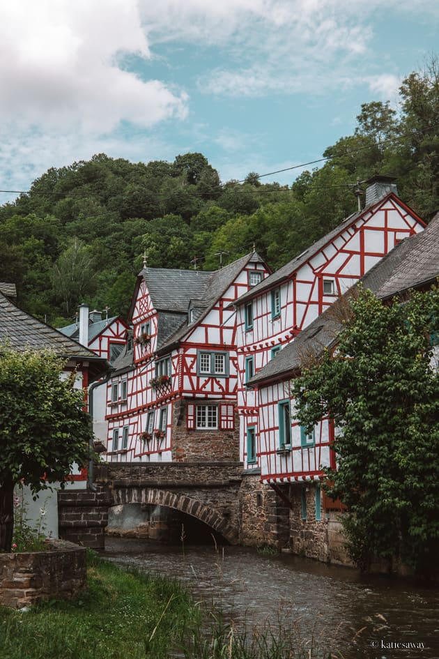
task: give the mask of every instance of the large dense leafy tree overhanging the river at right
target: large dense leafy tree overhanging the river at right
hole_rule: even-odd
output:
[[[392,305],[360,290],[351,310],[336,353],[294,382],[298,418],[309,429],[334,421],[338,465],[325,469],[326,487],[348,508],[357,565],[399,556],[428,569],[439,550],[439,289]]]

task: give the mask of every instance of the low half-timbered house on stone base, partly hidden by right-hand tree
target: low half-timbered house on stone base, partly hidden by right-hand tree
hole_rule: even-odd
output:
[[[438,276],[439,214],[423,232],[396,245],[361,281],[385,301],[410,288],[428,289]],[[284,517],[279,517],[284,524],[282,542],[294,553],[339,562],[346,562],[337,522],[343,506],[327,499],[320,486],[322,467],[336,468],[330,449],[334,427],[328,418],[323,418],[310,434],[300,426],[294,418],[291,380],[309,356],[318,355],[325,347],[336,347],[345,304],[341,298],[314,319],[249,381],[259,394],[260,485],[254,496],[261,496],[261,487],[265,487],[285,504],[287,527]],[[278,539],[272,534],[265,541],[276,543]]]

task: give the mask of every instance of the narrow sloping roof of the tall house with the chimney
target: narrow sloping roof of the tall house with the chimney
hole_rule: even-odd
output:
[[[401,199],[399,197],[396,197],[393,192],[390,192],[388,195],[385,195],[385,197],[382,197],[381,199],[378,200],[378,202],[373,202],[373,204],[369,204],[366,208],[362,209],[361,211],[357,211],[357,213],[352,213],[352,215],[348,215],[348,217],[341,222],[337,227],[332,229],[328,234],[325,234],[322,238],[320,238],[318,241],[316,241],[313,245],[310,245],[309,248],[307,248],[304,252],[302,252],[300,255],[297,257],[294,257],[291,259],[290,262],[288,262],[286,265],[282,266],[282,268],[279,268],[279,270],[275,271],[272,275],[269,277],[266,277],[263,279],[257,286],[254,286],[251,290],[247,291],[247,293],[242,294],[238,300],[236,301],[237,304],[241,304],[250,298],[254,298],[261,293],[268,291],[276,286],[278,286],[281,282],[287,280],[288,278],[293,275],[296,271],[298,271],[299,268],[301,268],[309,259],[314,257],[320,250],[322,250],[325,245],[328,245],[331,241],[334,240],[334,238],[337,238],[339,234],[342,234],[348,227],[351,227],[352,225],[357,222],[357,220],[360,220],[360,218],[363,217],[363,215],[366,215],[370,211],[373,211],[373,209],[377,208],[378,206],[381,206],[382,204],[385,204],[388,199],[394,199],[398,204],[406,208],[405,204],[401,202]],[[422,222],[421,218],[418,218],[416,213],[413,211],[410,211],[419,222],[421,222],[424,225],[424,222]]]

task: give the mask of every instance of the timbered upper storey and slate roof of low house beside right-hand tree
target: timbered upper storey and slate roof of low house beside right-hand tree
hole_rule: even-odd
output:
[[[384,300],[410,288],[426,289],[438,275],[439,214],[424,232],[397,245],[361,281]],[[318,480],[323,475],[322,465],[334,467],[334,455],[329,450],[334,429],[328,419],[323,419],[314,432],[305,433],[294,418],[291,379],[300,372],[307,356],[336,346],[343,328],[344,303],[339,300],[323,312],[249,383],[259,390],[257,450],[263,483]]]

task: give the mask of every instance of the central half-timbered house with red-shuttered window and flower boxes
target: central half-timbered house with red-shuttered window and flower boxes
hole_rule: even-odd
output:
[[[268,268],[253,252],[215,272],[147,268],[107,390],[107,460],[238,460],[235,312]]]

